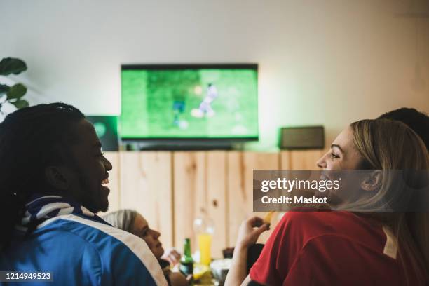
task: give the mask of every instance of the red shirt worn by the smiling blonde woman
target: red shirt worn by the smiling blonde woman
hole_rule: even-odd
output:
[[[395,237],[385,231],[351,212],[287,212],[250,278],[263,285],[407,285]],[[424,285],[417,275],[408,279]]]

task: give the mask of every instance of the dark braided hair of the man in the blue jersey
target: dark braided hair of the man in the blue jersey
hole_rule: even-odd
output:
[[[64,150],[76,142],[72,126],[85,116],[62,102],[19,109],[0,123],[0,249],[33,193],[48,192],[45,170],[64,161]]]

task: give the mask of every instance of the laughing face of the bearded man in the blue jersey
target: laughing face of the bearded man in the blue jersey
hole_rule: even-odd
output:
[[[101,143],[91,123],[82,119],[72,129],[76,144],[72,144],[68,193],[91,212],[105,212],[109,207],[108,171],[111,163],[101,152]]]

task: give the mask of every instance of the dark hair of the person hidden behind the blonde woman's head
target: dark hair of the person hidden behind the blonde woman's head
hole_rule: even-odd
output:
[[[393,111],[386,112],[378,119],[391,119],[405,123],[421,137],[426,149],[429,150],[429,116],[417,111],[414,108],[402,107]]]

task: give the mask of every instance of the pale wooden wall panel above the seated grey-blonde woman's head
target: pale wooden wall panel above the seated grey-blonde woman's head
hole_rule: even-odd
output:
[[[173,245],[171,152],[121,152],[121,208],[137,210]]]

